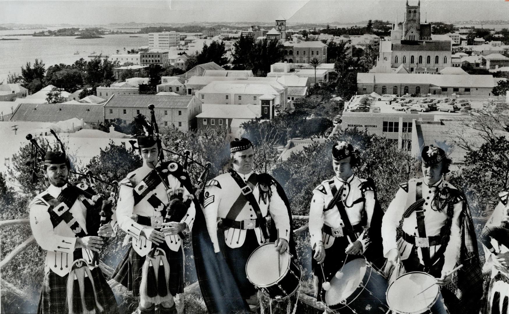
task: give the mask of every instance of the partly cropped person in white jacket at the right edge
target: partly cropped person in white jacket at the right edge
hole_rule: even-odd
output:
[[[509,297],[509,193],[500,192],[479,240],[484,244],[485,272],[491,272],[484,313],[502,313]]]

